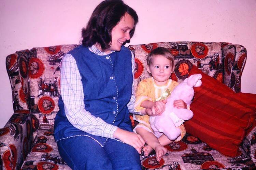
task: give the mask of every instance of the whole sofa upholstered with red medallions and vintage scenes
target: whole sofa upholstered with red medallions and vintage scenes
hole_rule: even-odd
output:
[[[58,153],[53,129],[61,93],[60,61],[76,46],[32,48],[6,57],[14,113],[0,129],[0,169],[70,169]],[[195,65],[203,73],[240,92],[246,49],[230,43],[130,45],[136,57],[135,88],[139,81],[149,77],[145,59],[158,46],[167,47],[175,57],[172,79],[183,81]],[[132,123],[136,124],[133,120]],[[199,138],[186,134],[182,141],[166,146],[168,152],[160,162],[155,161],[153,151],[147,157],[142,154],[141,163],[143,169],[253,169],[256,163],[255,134],[256,128],[251,126],[240,142],[241,153],[236,157],[225,156]],[[188,140],[191,137],[194,140]]]

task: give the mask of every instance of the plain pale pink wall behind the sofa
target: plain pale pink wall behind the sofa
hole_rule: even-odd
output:
[[[78,44],[80,30],[101,0],[1,0],[0,128],[13,113],[5,57],[16,50]],[[255,0],[125,0],[139,15],[130,44],[230,42],[247,49],[242,92],[256,94]],[[254,77],[254,80],[252,79]]]

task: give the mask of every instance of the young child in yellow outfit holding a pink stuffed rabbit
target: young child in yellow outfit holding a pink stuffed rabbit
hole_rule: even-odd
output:
[[[141,111],[141,114],[134,115],[135,120],[139,124],[133,129],[134,132],[140,134],[146,141],[144,146],[144,155],[147,156],[154,149],[156,151],[156,158],[158,161],[166,154],[167,149],[163,146],[172,143],[167,136],[162,135],[157,138],[153,134],[150,127],[149,117],[160,115],[165,111],[165,100],[178,85],[178,82],[170,79],[174,71],[174,58],[171,52],[164,47],[158,47],[147,57],[147,72],[152,77],[142,80],[136,89],[136,103],[135,109]],[[187,105],[182,100],[174,101],[174,107],[187,108]],[[179,126],[181,129],[181,136],[175,141],[180,141],[186,134],[184,125]]]

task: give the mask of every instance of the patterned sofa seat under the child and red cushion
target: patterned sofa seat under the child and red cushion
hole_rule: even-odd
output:
[[[247,140],[247,139],[246,139]],[[250,148],[250,145],[247,145]],[[240,148],[242,153],[237,157],[227,157],[218,151],[210,148],[206,143],[201,142],[189,134],[182,141],[174,142],[165,146],[168,149],[166,155],[160,162],[156,161],[155,152],[145,157],[141,155],[141,164],[144,170],[163,169],[253,169],[254,161],[248,152]],[[255,154],[254,154],[255,157]]]

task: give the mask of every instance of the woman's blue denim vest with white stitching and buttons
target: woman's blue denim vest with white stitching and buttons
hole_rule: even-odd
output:
[[[127,104],[131,98],[131,52],[122,46],[106,56],[99,56],[82,45],[69,52],[75,59],[82,77],[85,110],[106,123],[131,130]],[[86,135],[101,146],[107,138],[91,135],[75,128],[68,121],[62,98],[54,122],[55,141],[77,135]]]

